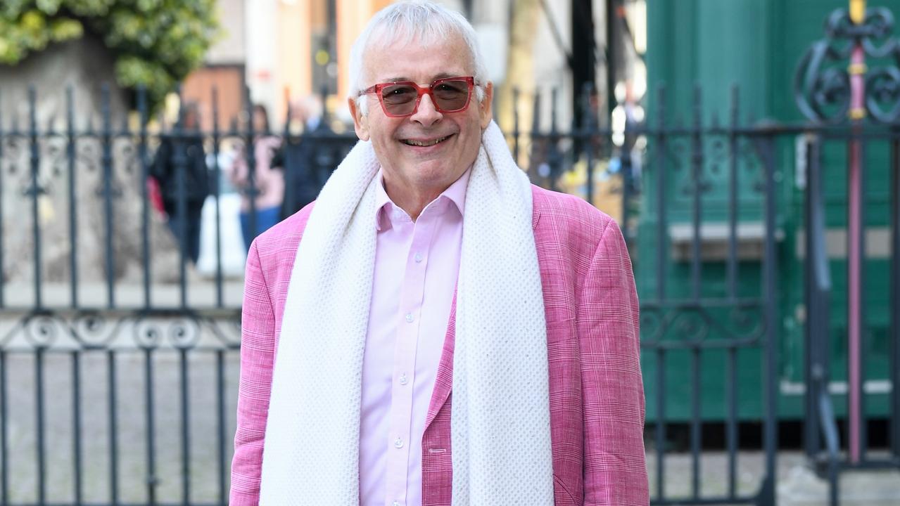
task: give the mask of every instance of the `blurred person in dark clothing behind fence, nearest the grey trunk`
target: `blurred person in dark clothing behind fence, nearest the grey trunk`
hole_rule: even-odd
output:
[[[210,176],[200,133],[200,111],[185,102],[180,129],[160,136],[150,177],[162,197],[167,223],[184,255],[196,263],[200,256],[203,200],[210,193]],[[184,183],[184,184],[182,184]]]

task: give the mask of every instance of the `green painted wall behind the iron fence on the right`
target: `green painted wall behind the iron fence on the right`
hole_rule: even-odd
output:
[[[846,8],[847,0],[648,0],[648,93],[645,98],[648,125],[659,125],[661,117],[669,127],[689,127],[699,114],[704,127],[727,125],[731,120],[732,89],[739,87],[737,111],[741,125],[758,124],[761,120],[779,123],[802,123],[795,104],[793,81],[797,64],[806,49],[824,37],[824,22],[835,9]],[[900,13],[900,0],[870,0],[869,7],[884,6]],[[895,36],[900,29],[895,27]],[[871,62],[870,65],[878,64]],[[664,105],[658,89],[665,88]],[[700,87],[699,93],[697,92]],[[695,97],[699,96],[699,102]],[[689,136],[671,137],[665,154],[650,139],[644,162],[644,193],[638,224],[635,271],[638,292],[643,300],[656,297],[655,242],[659,209],[655,195],[657,170],[667,174],[666,191],[669,205],[666,214],[670,225],[689,223],[692,196],[689,191],[691,156],[694,145]],[[778,227],[785,234],[779,243],[779,382],[797,383],[803,379],[803,260],[797,257],[797,231],[803,226],[803,189],[797,185],[795,167],[796,138],[784,136],[776,145],[776,176],[779,182]],[[702,145],[703,179],[707,191],[703,196],[702,217],[705,222],[724,222],[727,217],[727,185],[730,181],[728,159],[731,146],[726,136],[707,138]],[[842,142],[829,141],[824,146],[826,202],[831,229],[846,226],[846,149]],[[739,216],[743,222],[761,220],[763,195],[756,188],[761,182],[762,167],[752,143],[737,144],[740,174]],[[888,194],[887,145],[873,142],[867,153],[867,224],[887,226]],[[846,265],[832,262],[833,275],[833,380],[843,380],[845,364],[841,357],[846,333]],[[689,262],[667,259],[668,297],[687,297],[690,293]],[[867,262],[864,288],[868,306],[867,339],[870,379],[887,377],[887,297],[888,263]],[[724,262],[704,262],[702,295],[710,298],[726,296]],[[742,296],[761,294],[759,262],[741,262]],[[727,323],[727,309],[710,310],[710,315]],[[677,330],[677,329],[676,329]],[[644,333],[646,338],[648,333]],[[684,333],[673,331],[666,339],[683,339]],[[709,339],[722,337],[713,331]],[[704,352],[701,358],[703,397],[701,412],[709,418],[725,415],[724,351]],[[738,354],[739,413],[743,418],[761,415],[761,353],[742,351]],[[644,386],[647,391],[648,418],[655,417],[657,395],[657,357],[644,353]],[[667,355],[666,417],[683,419],[690,409],[690,354],[671,352]],[[802,416],[802,396],[781,395],[779,414],[786,418]],[[844,399],[836,396],[836,407],[843,413]],[[871,415],[887,413],[884,395],[869,395]]]

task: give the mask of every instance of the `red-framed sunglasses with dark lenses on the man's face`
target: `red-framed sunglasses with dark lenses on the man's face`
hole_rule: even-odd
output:
[[[465,111],[472,99],[474,86],[475,78],[469,75],[435,79],[424,87],[411,81],[374,84],[359,94],[377,93],[386,116],[403,118],[419,111],[419,102],[424,94],[431,97],[431,103],[438,112]]]

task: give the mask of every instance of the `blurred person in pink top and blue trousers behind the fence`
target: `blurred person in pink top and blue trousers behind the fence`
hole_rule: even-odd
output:
[[[241,150],[235,157],[229,170],[229,179],[240,191],[240,229],[244,235],[244,247],[249,250],[250,243],[257,235],[265,232],[281,219],[281,207],[284,200],[284,173],[273,164],[275,153],[281,146],[281,139],[272,135],[269,129],[269,114],[262,104],[253,106],[253,140],[254,171],[251,183],[247,170],[247,154]],[[256,221],[251,221],[250,203],[255,207]]]

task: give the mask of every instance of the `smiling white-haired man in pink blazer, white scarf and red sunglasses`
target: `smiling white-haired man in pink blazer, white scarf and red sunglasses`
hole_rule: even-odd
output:
[[[646,504],[616,224],[533,187],[471,25],[376,14],[361,139],[247,259],[231,504]]]

